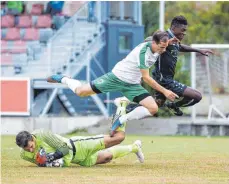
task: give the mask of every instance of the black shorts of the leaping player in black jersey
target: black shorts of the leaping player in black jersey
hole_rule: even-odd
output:
[[[173,79],[162,79],[162,80],[159,80],[159,81],[156,80],[156,81],[164,88],[176,93],[179,97],[183,97],[184,90],[187,88],[185,84],[177,82]],[[155,92],[155,98],[166,100],[165,95],[158,91]]]

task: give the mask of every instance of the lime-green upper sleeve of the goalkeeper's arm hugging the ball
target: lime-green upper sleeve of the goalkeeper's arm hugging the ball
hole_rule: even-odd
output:
[[[62,141],[56,134],[46,130],[40,130],[39,134],[42,141],[46,142],[55,150],[62,152],[64,156],[69,153],[69,147],[67,143]]]

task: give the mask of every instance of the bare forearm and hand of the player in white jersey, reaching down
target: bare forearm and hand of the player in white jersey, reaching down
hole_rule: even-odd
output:
[[[148,85],[150,85],[153,89],[163,93],[166,96],[166,98],[168,98],[169,100],[174,101],[175,98],[179,98],[178,95],[176,95],[170,90],[165,89],[160,84],[158,84],[153,78],[151,78],[149,75],[149,69],[141,69],[141,73],[142,73],[142,79]]]

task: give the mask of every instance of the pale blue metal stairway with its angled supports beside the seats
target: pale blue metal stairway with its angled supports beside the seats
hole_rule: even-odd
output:
[[[105,46],[105,29],[103,25],[99,23],[85,21],[85,19],[82,18],[83,8],[84,7],[79,9],[49,40],[47,52],[43,55],[43,62],[47,62],[47,58],[49,60],[46,63],[46,65],[48,65],[46,68],[47,75],[63,73],[77,79],[80,77],[80,80],[84,82],[90,81],[91,61]],[[98,62],[95,64],[98,65],[98,68],[101,70],[101,65]],[[93,65],[95,64],[93,63]],[[82,71],[85,68],[87,71],[86,77],[82,78]],[[41,73],[44,73],[44,68],[41,69]],[[104,71],[102,72],[104,73]],[[59,89],[59,86],[54,89],[54,87],[53,85],[47,84],[45,80],[42,81],[42,76],[40,76],[39,80],[34,80],[35,89],[52,89],[50,97],[41,112],[41,116],[48,113],[54,99],[58,97],[70,115],[76,115],[76,112],[81,114],[102,113],[105,117],[108,117],[108,111],[103,103],[105,95],[93,95],[92,97],[82,99],[77,98],[70,90]]]

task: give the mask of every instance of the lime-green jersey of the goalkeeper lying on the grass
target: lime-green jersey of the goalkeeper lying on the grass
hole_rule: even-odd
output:
[[[64,155],[63,166],[70,165],[73,157],[73,151],[68,138],[53,134],[52,132],[46,130],[35,130],[31,134],[36,140],[35,151],[31,153],[21,149],[20,155],[22,159],[36,164],[36,154],[42,147],[45,149],[46,153],[54,153],[56,150],[61,151]]]

